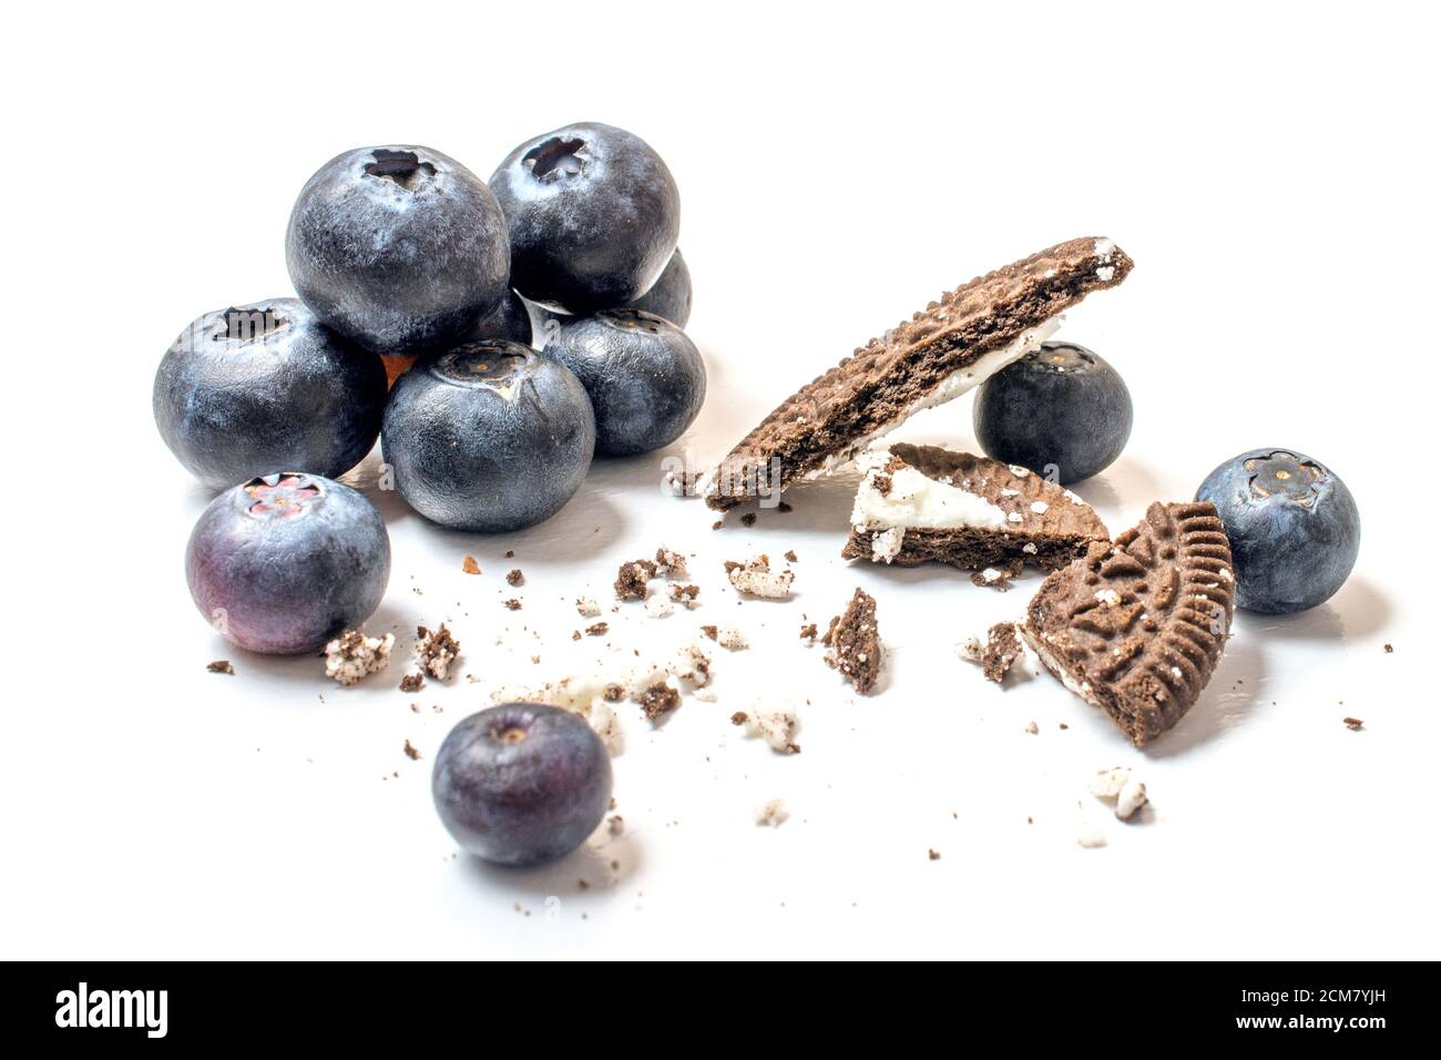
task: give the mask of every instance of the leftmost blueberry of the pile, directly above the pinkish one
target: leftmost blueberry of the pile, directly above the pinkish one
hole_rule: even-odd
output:
[[[210,489],[300,467],[336,477],[380,433],[385,368],[295,299],[206,313],[156,372],[156,424]]]

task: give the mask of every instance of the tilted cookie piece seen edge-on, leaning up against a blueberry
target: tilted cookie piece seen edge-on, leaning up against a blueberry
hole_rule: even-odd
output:
[[[725,511],[846,463],[1039,346],[1061,313],[1130,271],[1114,242],[1088,237],[942,294],[787,398],[708,476],[706,503]]]

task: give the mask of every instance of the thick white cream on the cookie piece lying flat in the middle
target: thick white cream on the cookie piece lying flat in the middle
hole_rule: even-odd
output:
[[[856,493],[856,505],[850,512],[850,525],[857,529],[953,529],[976,526],[1000,529],[1006,525],[1006,513],[994,503],[971,493],[927,477],[914,467],[886,472],[889,450],[872,450],[862,457],[865,477]],[[882,493],[878,479],[891,479],[891,487]],[[879,535],[878,535],[879,536]],[[872,539],[872,549],[879,555],[883,549],[899,551],[901,538],[880,542]],[[895,552],[891,552],[895,555]],[[883,557],[882,557],[883,558]]]

